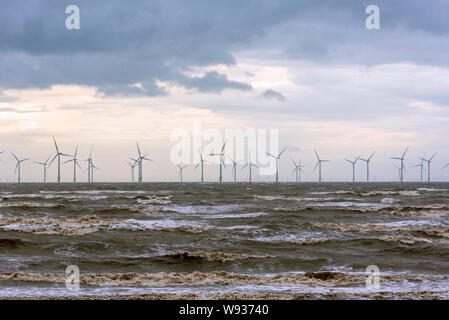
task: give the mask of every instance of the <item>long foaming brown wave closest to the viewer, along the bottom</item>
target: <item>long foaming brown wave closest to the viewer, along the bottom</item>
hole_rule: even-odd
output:
[[[66,274],[55,273],[0,273],[0,281],[64,283]],[[444,275],[381,274],[380,281],[402,282],[424,280],[447,280]],[[341,272],[306,272],[276,275],[238,274],[225,271],[213,272],[159,272],[159,273],[84,273],[80,283],[93,286],[181,286],[195,285],[264,285],[264,286],[320,286],[335,287],[365,285],[366,275]]]

